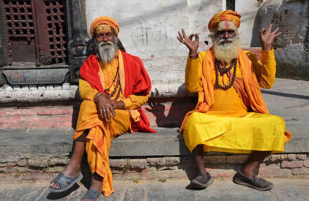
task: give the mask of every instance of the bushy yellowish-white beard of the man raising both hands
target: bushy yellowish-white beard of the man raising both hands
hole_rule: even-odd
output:
[[[224,43],[225,41],[230,43]],[[233,39],[219,39],[218,37],[214,40],[214,53],[215,57],[219,61],[230,62],[232,59],[238,57],[238,42],[239,37],[237,35],[234,36]]]

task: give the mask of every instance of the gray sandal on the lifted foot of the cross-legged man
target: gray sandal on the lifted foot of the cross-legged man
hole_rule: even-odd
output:
[[[79,182],[83,178],[83,174],[80,172],[76,178],[66,177],[64,174],[60,173],[57,177],[53,179],[51,182],[56,182],[59,184],[61,189],[53,189],[52,187],[48,187],[50,192],[59,193],[62,191],[66,191],[71,188],[75,183]],[[69,183],[67,186],[66,183]]]

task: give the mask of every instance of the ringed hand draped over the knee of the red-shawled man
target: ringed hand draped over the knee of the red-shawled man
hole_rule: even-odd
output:
[[[116,118],[113,105],[104,94],[97,97],[97,102],[102,119],[105,119],[105,121],[110,121],[110,113],[112,113],[113,117]]]

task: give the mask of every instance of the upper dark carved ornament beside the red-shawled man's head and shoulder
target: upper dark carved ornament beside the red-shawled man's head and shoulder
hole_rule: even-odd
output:
[[[88,57],[87,55],[87,44],[89,38],[85,38],[77,33],[72,40],[69,40],[68,50],[69,59],[72,65],[82,64],[83,61]]]

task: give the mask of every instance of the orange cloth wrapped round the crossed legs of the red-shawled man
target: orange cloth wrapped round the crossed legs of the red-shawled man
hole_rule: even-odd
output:
[[[109,196],[114,192],[108,161],[110,143],[114,137],[130,129],[130,114],[125,110],[115,110],[116,118],[111,115],[111,121],[107,123],[99,117],[97,104],[91,100],[82,102],[73,139],[89,129],[86,142],[88,165],[91,173],[103,177],[102,192]]]

